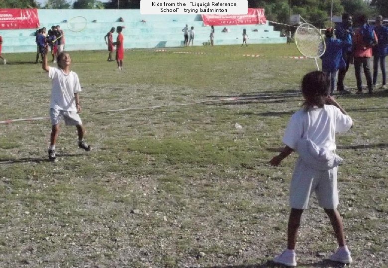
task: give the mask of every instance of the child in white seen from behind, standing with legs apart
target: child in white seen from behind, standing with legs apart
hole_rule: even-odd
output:
[[[297,151],[299,154],[290,186],[287,249],[275,257],[274,262],[278,264],[296,266],[295,244],[300,217],[308,207],[311,192],[316,193],[319,206],[328,215],[337,237],[339,248],[329,259],[344,264],[352,262],[337,210],[337,166],[342,159],[334,150],[335,133],[348,131],[353,122],[329,95],[329,88],[329,78],[321,71],[313,71],[303,77],[303,109],[292,115],[283,137],[286,146],[270,161],[271,165],[278,166],[291,152]]]

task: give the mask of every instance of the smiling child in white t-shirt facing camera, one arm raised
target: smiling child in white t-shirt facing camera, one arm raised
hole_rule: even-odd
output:
[[[80,80],[77,73],[70,70],[71,58],[66,52],[59,53],[57,57],[58,67],[47,65],[47,55],[43,55],[42,68],[49,73],[52,79],[50,119],[51,135],[48,149],[49,159],[55,160],[55,143],[59,134],[59,120],[61,117],[66,125],[76,126],[78,133],[78,146],[86,151],[92,150],[84,140],[85,128],[82,125],[79,113],[81,113]]]

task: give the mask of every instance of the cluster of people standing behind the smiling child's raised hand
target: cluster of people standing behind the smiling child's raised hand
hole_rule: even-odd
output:
[[[65,32],[59,25],[51,26],[46,32],[46,28],[40,28],[35,33],[35,43],[37,45],[35,63],[39,61],[39,55],[43,62],[43,55],[51,51],[52,62],[56,63],[57,55],[65,49]]]

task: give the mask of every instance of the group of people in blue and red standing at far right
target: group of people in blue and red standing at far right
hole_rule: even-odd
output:
[[[373,93],[377,84],[379,65],[382,71],[382,89],[387,89],[387,72],[385,58],[388,54],[388,27],[383,25],[383,17],[376,17],[376,25],[369,25],[366,15],[361,14],[355,21],[349,13],[342,14],[342,23],[335,31],[326,29],[326,51],[322,55],[322,70],[331,81],[330,92],[349,94],[344,87],[345,74],[350,64],[354,64],[357,92],[363,93],[361,67],[367,80],[369,94]],[[334,38],[334,35],[336,38]],[[373,59],[373,60],[372,60]],[[373,76],[371,66],[373,61]],[[337,80],[338,77],[338,80]]]

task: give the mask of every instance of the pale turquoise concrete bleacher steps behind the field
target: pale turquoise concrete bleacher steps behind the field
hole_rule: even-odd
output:
[[[47,30],[52,25],[60,25],[65,31],[66,46],[72,50],[106,50],[105,34],[111,27],[125,26],[124,47],[130,48],[164,48],[182,47],[183,32],[186,24],[194,26],[194,46],[209,42],[210,26],[204,26],[200,15],[142,15],[140,10],[65,10],[38,9],[40,27]],[[81,32],[72,32],[67,22],[75,16],[84,16],[88,23]],[[122,17],[124,22],[118,22]],[[93,22],[96,20],[95,22]],[[145,22],[141,22],[145,20]],[[215,45],[237,45],[242,43],[242,32],[246,29],[248,44],[286,43],[273,26],[260,25],[227,25],[229,32],[222,32],[223,26],[215,26]],[[36,29],[19,29],[1,31],[3,37],[2,52],[36,52]],[[254,31],[256,30],[256,31]],[[113,34],[115,40],[117,34]]]

